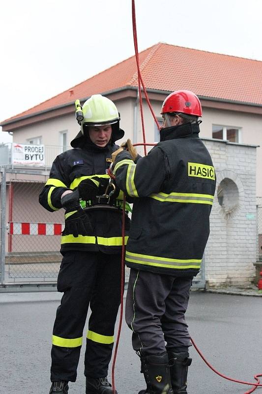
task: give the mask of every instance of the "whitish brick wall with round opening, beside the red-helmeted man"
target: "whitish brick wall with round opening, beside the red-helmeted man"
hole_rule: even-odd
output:
[[[203,139],[216,170],[205,249],[207,287],[246,286],[257,254],[256,146]]]

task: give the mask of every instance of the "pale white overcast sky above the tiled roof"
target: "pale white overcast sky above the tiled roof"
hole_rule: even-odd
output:
[[[133,56],[131,4],[1,2],[0,121]],[[139,51],[161,41],[262,61],[261,18],[262,0],[136,0]]]

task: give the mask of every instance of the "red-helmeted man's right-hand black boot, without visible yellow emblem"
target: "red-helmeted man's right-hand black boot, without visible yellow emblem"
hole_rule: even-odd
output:
[[[168,352],[168,358],[174,394],[187,394],[187,371],[192,362],[189,353]]]

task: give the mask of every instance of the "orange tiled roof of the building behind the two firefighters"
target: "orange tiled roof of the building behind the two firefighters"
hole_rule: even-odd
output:
[[[147,89],[188,89],[205,98],[262,105],[260,61],[165,43],[147,48],[139,58]],[[135,56],[6,121],[128,86],[138,86]]]

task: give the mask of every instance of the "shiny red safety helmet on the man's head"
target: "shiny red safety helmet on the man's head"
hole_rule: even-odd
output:
[[[163,102],[161,114],[179,112],[181,114],[202,116],[199,98],[190,90],[176,90]]]

